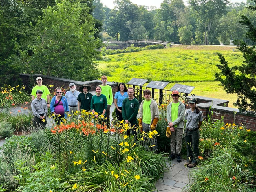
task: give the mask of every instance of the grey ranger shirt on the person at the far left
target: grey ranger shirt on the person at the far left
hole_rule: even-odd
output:
[[[39,100],[37,97],[31,103],[31,109],[34,116],[40,118],[39,114],[43,114],[46,117],[48,109],[47,109],[47,102],[45,99]]]

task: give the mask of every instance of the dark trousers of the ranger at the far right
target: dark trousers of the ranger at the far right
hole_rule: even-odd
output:
[[[197,162],[199,156],[199,129],[195,131],[186,130],[186,144],[188,159]]]

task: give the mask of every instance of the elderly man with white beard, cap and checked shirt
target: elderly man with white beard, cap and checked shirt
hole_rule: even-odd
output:
[[[65,98],[67,98],[69,114],[73,116],[74,112],[78,111],[77,98],[80,94],[79,91],[76,91],[76,85],[74,83],[69,84],[70,91],[67,91]]]

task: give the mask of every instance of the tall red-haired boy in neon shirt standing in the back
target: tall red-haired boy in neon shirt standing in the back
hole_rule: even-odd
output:
[[[101,94],[105,95],[107,97],[107,125],[110,126],[110,107],[113,103],[113,92],[111,86],[107,85],[107,76],[103,75],[101,77],[102,85],[101,87]]]

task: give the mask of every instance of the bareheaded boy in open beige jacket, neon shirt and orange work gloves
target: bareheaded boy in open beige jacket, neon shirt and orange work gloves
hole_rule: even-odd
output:
[[[140,104],[139,128],[145,133],[148,133],[149,131],[154,131],[156,129],[156,124],[159,119],[159,110],[156,101],[151,99],[151,91],[149,89],[144,90],[143,95],[145,97],[145,100],[143,100]],[[145,140],[145,145],[146,144],[147,142]],[[157,139],[155,136],[153,136],[151,142],[148,145],[155,145],[153,147],[153,151],[157,150]],[[145,147],[148,148],[149,146]]]

